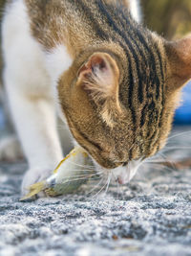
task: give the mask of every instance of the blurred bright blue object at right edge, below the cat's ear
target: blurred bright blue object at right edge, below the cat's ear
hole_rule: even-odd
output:
[[[191,81],[183,88],[181,105],[175,114],[175,125],[191,125]]]

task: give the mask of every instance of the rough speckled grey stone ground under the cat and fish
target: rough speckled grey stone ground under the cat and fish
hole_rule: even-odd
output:
[[[191,132],[170,142],[161,157],[191,155]],[[107,194],[88,197],[87,185],[77,195],[20,202],[25,169],[0,165],[1,256],[191,255],[191,170],[145,164]]]

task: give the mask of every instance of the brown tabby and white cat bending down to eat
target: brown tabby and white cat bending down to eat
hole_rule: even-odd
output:
[[[8,1],[3,77],[29,162],[23,194],[63,158],[55,112],[120,184],[164,147],[191,78],[191,37],[167,41],[140,21],[135,0]]]

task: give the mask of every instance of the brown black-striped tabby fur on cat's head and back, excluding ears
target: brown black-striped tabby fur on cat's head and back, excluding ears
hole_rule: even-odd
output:
[[[59,79],[58,93],[77,142],[105,168],[159,151],[178,101],[178,91],[169,92],[171,64],[164,39],[138,24],[125,0],[25,3],[32,35],[44,51],[64,44],[74,60]],[[84,90],[84,81],[78,80],[81,67],[97,52],[117,63],[118,99],[97,103],[94,94]]]

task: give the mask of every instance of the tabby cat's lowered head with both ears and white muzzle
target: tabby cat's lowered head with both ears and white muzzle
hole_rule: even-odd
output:
[[[165,145],[190,78],[191,37],[168,42],[151,34],[132,46],[85,51],[61,77],[59,99],[78,144],[124,183]]]

